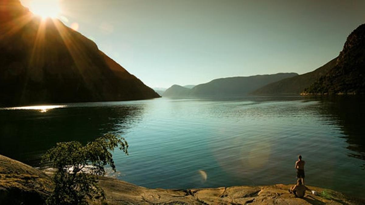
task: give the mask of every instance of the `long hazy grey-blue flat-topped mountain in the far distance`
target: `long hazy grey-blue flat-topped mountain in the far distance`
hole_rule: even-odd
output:
[[[191,89],[192,96],[223,96],[248,94],[272,82],[297,76],[297,73],[277,73],[249,77],[219,78]]]

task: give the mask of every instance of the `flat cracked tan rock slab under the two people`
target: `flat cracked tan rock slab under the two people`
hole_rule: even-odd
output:
[[[329,189],[307,186],[304,198],[288,192],[293,185],[233,186],[204,189],[147,189],[117,179],[101,177],[108,204],[365,204],[364,199]],[[95,202],[97,204],[97,202]]]

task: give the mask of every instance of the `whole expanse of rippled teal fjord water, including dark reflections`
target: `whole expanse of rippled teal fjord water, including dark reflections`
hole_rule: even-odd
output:
[[[294,183],[362,196],[365,99],[337,97],[159,98],[0,109],[0,154],[39,166],[57,142],[114,132],[117,177],[150,188]]]

